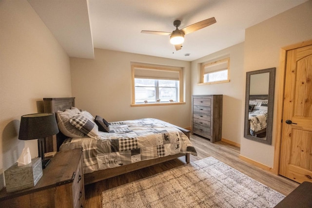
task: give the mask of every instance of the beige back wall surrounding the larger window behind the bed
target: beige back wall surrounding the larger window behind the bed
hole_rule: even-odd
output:
[[[131,62],[183,67],[186,104],[131,107]],[[187,128],[190,118],[190,62],[95,49],[95,59],[70,58],[76,106],[107,121],[153,117]]]

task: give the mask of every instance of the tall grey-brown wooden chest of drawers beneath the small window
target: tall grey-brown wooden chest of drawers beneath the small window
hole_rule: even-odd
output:
[[[192,134],[221,141],[223,95],[192,95]]]

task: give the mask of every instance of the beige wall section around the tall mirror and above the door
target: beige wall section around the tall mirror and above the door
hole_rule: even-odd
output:
[[[268,167],[273,167],[274,142],[276,139],[277,94],[280,93],[277,92],[280,77],[280,48],[312,39],[311,22],[312,1],[310,0],[246,29],[244,77],[246,77],[248,71],[276,67],[273,141],[272,145],[266,145],[245,139],[243,131],[241,131],[240,153],[242,156]],[[241,123],[241,126],[243,128],[243,123]]]

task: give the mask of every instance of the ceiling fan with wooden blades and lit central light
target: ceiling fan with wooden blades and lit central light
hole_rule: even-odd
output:
[[[184,35],[192,33],[196,30],[200,30],[204,27],[207,27],[209,25],[212,25],[216,22],[215,18],[209,18],[202,21],[199,21],[195,24],[191,24],[181,30],[178,29],[178,27],[181,24],[180,20],[175,20],[174,25],[176,27],[176,30],[170,32],[159,32],[159,31],[148,31],[148,30],[142,30],[141,33],[149,33],[149,34],[156,34],[156,35],[163,35],[168,36],[170,35],[170,43],[175,45],[176,50],[180,50],[182,48],[182,43],[184,42]]]

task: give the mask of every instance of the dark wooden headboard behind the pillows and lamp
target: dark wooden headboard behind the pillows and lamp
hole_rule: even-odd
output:
[[[57,113],[75,107],[75,97],[43,98],[44,113]],[[52,139],[46,139],[46,151],[59,151],[66,136],[59,132]]]

